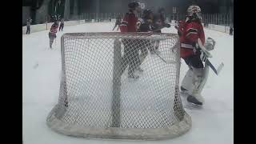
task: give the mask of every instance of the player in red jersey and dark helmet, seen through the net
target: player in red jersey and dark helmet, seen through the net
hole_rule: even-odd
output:
[[[119,27],[121,32],[136,32],[138,21],[136,14],[140,13],[141,8],[138,2],[130,2],[128,7],[129,12],[126,13]],[[139,57],[138,47],[134,46],[134,42],[136,42],[136,40],[122,39],[122,43],[124,45],[124,54],[121,62],[121,74],[124,70],[126,70],[126,66],[129,65],[128,78],[137,79],[139,76],[134,74],[134,70],[139,64]]]

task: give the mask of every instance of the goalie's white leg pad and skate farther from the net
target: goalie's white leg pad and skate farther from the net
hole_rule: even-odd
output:
[[[187,101],[194,103],[195,105],[202,106],[204,103],[204,98],[202,98],[201,92],[208,78],[209,66],[206,65],[205,68],[200,69],[193,68],[193,72],[194,78],[192,81],[194,84],[194,89],[192,94],[187,98]]]

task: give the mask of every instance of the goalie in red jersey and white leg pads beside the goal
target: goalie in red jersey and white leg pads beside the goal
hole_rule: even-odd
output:
[[[201,9],[199,6],[189,6],[186,21],[180,21],[179,26],[176,26],[181,42],[180,57],[189,66],[189,70],[182,80],[181,90],[189,94],[187,97],[188,102],[198,106],[202,106],[204,102],[201,91],[208,77],[200,57],[203,53],[198,48],[198,38],[202,44],[205,43],[200,14]]]

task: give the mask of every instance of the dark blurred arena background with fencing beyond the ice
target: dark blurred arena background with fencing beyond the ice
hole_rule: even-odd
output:
[[[57,15],[65,21],[85,20],[86,22],[111,21],[128,11],[131,0],[22,0],[22,26],[32,18],[32,25],[53,22]],[[145,9],[157,12],[166,10],[166,20],[185,18],[186,9],[197,4],[202,10],[202,22],[233,26],[234,0],[138,0]]]

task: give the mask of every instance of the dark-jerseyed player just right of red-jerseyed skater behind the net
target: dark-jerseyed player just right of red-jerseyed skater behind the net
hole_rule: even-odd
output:
[[[153,22],[154,14],[151,10],[143,10],[142,19],[137,22],[138,32],[151,32],[152,22]],[[138,42],[139,50],[141,50],[141,54],[139,55],[140,63],[136,70],[143,72],[140,65],[145,60],[148,55],[148,49],[152,49],[152,44],[150,40],[140,40]]]

